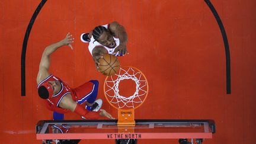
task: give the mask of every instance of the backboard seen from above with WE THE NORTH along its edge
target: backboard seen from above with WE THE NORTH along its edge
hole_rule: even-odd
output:
[[[59,130],[57,130],[59,129]],[[117,120],[41,120],[37,139],[211,139],[213,120],[135,120],[119,126]]]

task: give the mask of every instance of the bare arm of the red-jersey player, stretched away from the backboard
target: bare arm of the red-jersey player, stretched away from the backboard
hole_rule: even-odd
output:
[[[48,69],[50,67],[50,55],[55,52],[59,47],[68,45],[73,49],[71,43],[73,43],[73,38],[70,33],[68,33],[65,37],[65,39],[60,40],[57,43],[51,44],[50,46],[47,46],[44,49],[44,52],[41,56],[41,62],[39,65],[39,72],[37,73],[37,84],[39,84],[43,79],[47,78],[49,76]]]

